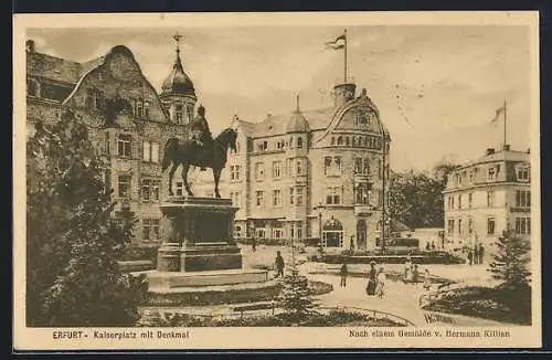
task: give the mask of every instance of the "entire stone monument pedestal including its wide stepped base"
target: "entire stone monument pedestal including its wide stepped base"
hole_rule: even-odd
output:
[[[163,244],[148,273],[152,306],[205,306],[266,301],[280,284],[268,272],[243,269],[232,239],[230,199],[170,198],[159,207]]]

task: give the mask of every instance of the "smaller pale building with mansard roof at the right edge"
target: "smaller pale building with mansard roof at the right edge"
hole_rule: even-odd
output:
[[[444,194],[445,233],[452,245],[491,246],[505,230],[530,237],[529,151],[487,149],[480,159],[448,176]]]

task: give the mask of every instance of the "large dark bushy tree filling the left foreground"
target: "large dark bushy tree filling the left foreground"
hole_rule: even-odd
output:
[[[53,126],[39,123],[28,158],[28,325],[131,326],[147,284],[118,268],[132,222],[112,218],[106,165],[86,126],[71,110]]]

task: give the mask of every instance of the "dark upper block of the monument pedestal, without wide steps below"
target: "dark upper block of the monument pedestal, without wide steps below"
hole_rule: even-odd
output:
[[[241,269],[242,253],[232,236],[236,208],[230,199],[170,198],[163,214],[158,272]]]

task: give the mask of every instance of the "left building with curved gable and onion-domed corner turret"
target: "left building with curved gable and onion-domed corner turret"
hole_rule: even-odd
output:
[[[114,215],[123,210],[136,215],[138,244],[160,243],[158,204],[168,188],[161,173],[163,145],[170,137],[187,136],[195,100],[178,47],[158,95],[125,46],[76,63],[40,53],[32,40],[26,42],[28,136],[36,121],[52,124],[65,108],[84,120],[97,150],[108,159],[106,183],[117,200]],[[32,167],[32,159],[28,162]]]

